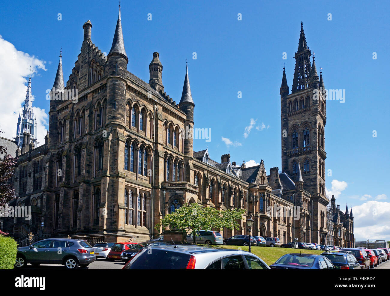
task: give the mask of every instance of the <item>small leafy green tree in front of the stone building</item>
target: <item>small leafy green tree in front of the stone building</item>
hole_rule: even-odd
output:
[[[219,211],[213,207],[204,207],[197,203],[186,204],[175,212],[165,215],[156,229],[168,227],[170,229],[192,229],[193,242],[196,244],[196,232],[211,229],[238,229],[238,221],[245,214],[244,209],[229,209]]]

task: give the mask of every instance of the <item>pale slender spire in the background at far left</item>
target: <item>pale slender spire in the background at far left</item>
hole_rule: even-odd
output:
[[[31,142],[37,147],[37,122],[34,117],[34,111],[32,109],[32,93],[31,93],[31,74],[28,78],[27,93],[25,102],[23,104],[22,113],[18,117],[18,125],[16,127],[16,144],[18,147],[23,146],[23,133],[27,132],[30,134]],[[30,143],[27,143],[29,145]]]

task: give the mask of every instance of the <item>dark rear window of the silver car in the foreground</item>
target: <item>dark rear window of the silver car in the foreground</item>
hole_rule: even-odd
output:
[[[151,249],[138,254],[124,269],[185,269],[191,255],[167,250]]]

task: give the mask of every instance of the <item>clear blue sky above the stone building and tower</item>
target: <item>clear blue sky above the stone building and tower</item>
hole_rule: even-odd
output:
[[[32,91],[34,106],[46,112],[46,89],[53,85],[60,47],[67,81],[80,52],[83,23],[90,19],[92,42],[108,52],[118,12],[117,2],[98,0],[85,4],[72,0],[34,4],[5,1],[0,9],[2,39],[43,63],[43,67],[34,68]],[[285,62],[291,90],[293,56],[303,21],[307,44],[316,53],[317,69],[323,68],[325,87],[346,91],[345,103],[327,101],[326,170],[331,169],[332,176],[326,177],[326,187],[336,192],[343,209],[348,202],[358,212],[361,206],[363,215],[367,203],[372,202],[371,206],[385,204],[390,210],[390,103],[385,91],[390,78],[388,5],[363,1],[353,5],[336,1],[299,5],[290,1],[122,1],[121,12],[128,70],[148,82],[152,53],[158,51],[165,91],[176,102],[181,97],[188,58],[195,126],[211,128],[211,142],[195,140],[194,149],[208,146],[214,160],[228,151],[237,163],[263,159],[268,172],[271,167],[280,167],[282,68]],[[62,14],[60,21],[58,13]],[[147,20],[149,13],[151,21]],[[329,13],[332,20],[328,20]],[[283,52],[287,60],[282,59]],[[374,52],[377,59],[372,58]],[[245,138],[251,119],[255,123]],[[16,122],[15,117],[15,128]],[[233,144],[226,145],[222,137]],[[332,188],[333,180],[337,182]],[[390,239],[390,229],[385,233]]]

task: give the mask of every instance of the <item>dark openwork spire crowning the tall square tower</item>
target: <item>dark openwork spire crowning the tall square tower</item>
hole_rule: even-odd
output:
[[[295,53],[295,71],[291,93],[309,88],[311,72],[310,56],[311,51],[307,47],[303,23],[301,22],[301,34],[299,37],[298,51]]]

